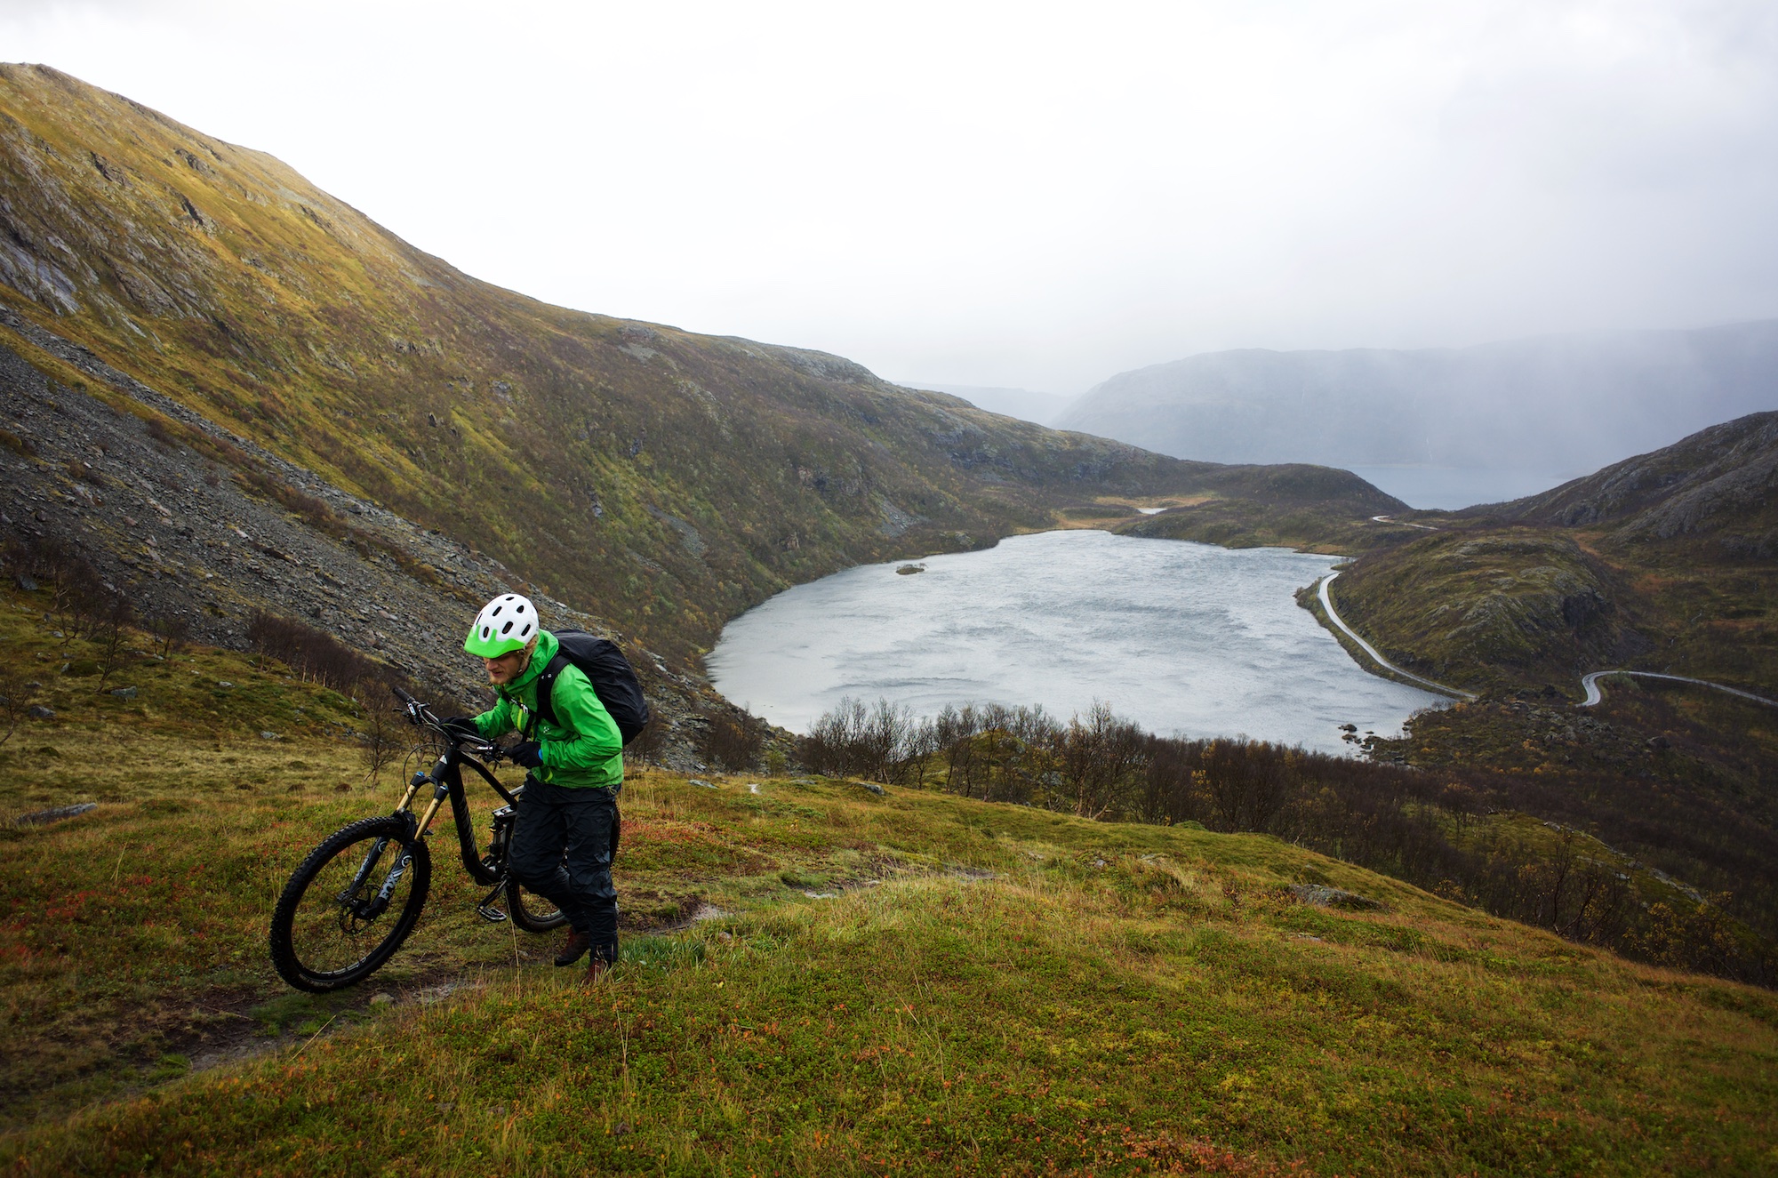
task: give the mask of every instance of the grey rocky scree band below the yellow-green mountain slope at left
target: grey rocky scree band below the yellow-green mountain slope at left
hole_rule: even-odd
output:
[[[526,589],[510,569],[20,326],[34,338],[11,335],[12,347],[0,343],[0,413],[9,422],[0,438],[0,534],[27,546],[60,541],[142,616],[183,619],[197,641],[242,648],[249,619],[263,610],[334,633],[441,701],[487,699],[485,680],[459,644],[482,601]],[[34,347],[37,340],[64,356]],[[206,441],[258,479],[201,452]],[[286,498],[295,491],[350,525],[318,527],[315,507],[308,516],[290,511],[263,493],[267,486]],[[28,582],[28,573],[14,575]],[[670,758],[686,760],[702,714],[727,706],[706,682],[670,673],[601,619],[548,596],[539,605],[549,625],[594,630],[629,650],[667,724]]]

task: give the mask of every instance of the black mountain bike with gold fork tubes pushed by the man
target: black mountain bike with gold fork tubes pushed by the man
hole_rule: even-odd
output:
[[[507,874],[514,808],[525,787],[509,792],[494,778],[493,771],[500,767],[505,749],[446,726],[430,706],[400,687],[395,694],[407,712],[407,722],[427,730],[444,751],[430,772],[414,772],[395,813],[340,827],[290,875],[272,911],[272,964],[297,989],[327,993],[361,982],[402,947],[414,931],[432,886],[427,833],[446,799],[457,820],[464,870],[477,884],[493,888],[475,906],[477,915],[494,924],[510,918],[526,932],[548,932],[567,924],[565,913],[526,892]],[[477,845],[462,783],[464,765],[505,801],[494,810],[485,851]],[[432,787],[432,801],[416,817],[414,799],[427,787]],[[507,911],[494,904],[501,893],[507,897]]]

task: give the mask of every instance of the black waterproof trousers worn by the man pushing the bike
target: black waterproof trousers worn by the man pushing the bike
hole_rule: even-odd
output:
[[[512,877],[544,897],[592,952],[617,961],[617,797],[610,790],[567,788],[526,779],[512,829]]]

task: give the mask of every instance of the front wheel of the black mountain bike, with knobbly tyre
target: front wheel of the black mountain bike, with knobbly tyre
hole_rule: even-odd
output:
[[[361,982],[395,956],[432,886],[427,843],[396,817],[361,819],[322,840],[272,911],[272,966],[309,993]]]

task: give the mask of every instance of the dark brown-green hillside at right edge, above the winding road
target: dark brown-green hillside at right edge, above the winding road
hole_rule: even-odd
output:
[[[1545,495],[1456,514],[1357,561],[1341,614],[1460,687],[1625,667],[1778,698],[1778,413],[1755,413]]]

